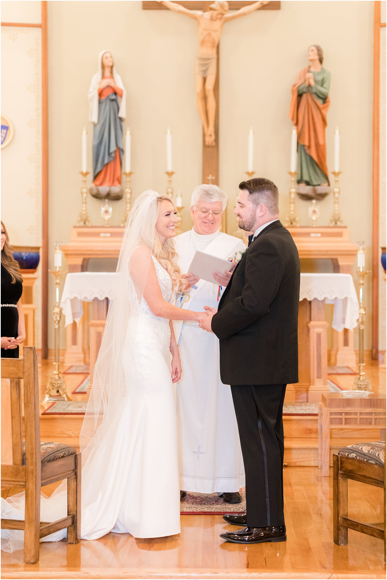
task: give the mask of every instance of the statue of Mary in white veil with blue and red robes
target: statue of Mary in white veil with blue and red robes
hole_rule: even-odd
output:
[[[93,185],[97,199],[121,200],[122,121],[126,117],[126,91],[108,50],[100,52],[98,73],[89,92],[89,121],[93,132]]]

